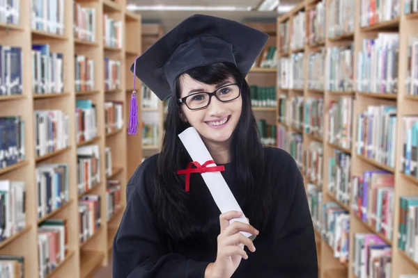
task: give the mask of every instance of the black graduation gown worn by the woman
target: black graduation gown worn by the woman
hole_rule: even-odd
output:
[[[254,240],[256,252],[245,247],[249,259],[242,259],[232,277],[318,277],[314,228],[300,170],[284,150],[264,149],[265,177],[274,185],[272,212],[267,228]],[[207,250],[187,248],[155,225],[150,175],[156,158],[141,163],[127,184],[127,205],[114,237],[113,277],[203,278],[208,263],[216,259],[216,243]],[[222,174],[234,192],[238,185],[228,179],[228,172],[226,165]]]

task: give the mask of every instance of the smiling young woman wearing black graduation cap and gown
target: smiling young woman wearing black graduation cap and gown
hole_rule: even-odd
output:
[[[318,277],[302,175],[283,150],[263,147],[245,75],[267,35],[237,22],[185,19],[133,65],[160,97],[171,97],[160,154],[127,183],[114,238],[114,278]],[[220,213],[178,134],[193,126],[249,224]],[[256,236],[244,236],[246,231]]]

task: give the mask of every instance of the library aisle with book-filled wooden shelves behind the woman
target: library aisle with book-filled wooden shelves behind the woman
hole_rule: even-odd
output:
[[[285,3],[273,22],[244,22],[270,35],[247,81],[264,145],[304,176],[319,277],[418,278],[418,0]],[[127,180],[160,151],[169,104],[138,79],[134,88],[130,66],[173,26],[129,6],[0,0],[10,277],[111,277]],[[140,126],[129,136],[134,90]]]

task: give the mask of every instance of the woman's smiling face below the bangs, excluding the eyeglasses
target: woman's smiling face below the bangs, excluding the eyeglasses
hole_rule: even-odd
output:
[[[235,90],[239,88],[236,85],[227,86],[235,83],[235,79],[232,77],[222,83],[208,85],[205,83],[199,83],[192,79],[189,75],[185,74],[180,78],[181,94],[180,98],[187,97],[198,92],[214,92],[218,88],[217,95],[222,97],[228,97],[229,94],[236,93]],[[226,86],[226,87],[225,87]],[[206,97],[208,97],[206,95]],[[193,98],[193,99],[192,99]],[[190,101],[192,99],[192,102]],[[204,104],[204,95],[194,95],[194,97],[188,98],[190,105],[199,106]],[[183,113],[183,120],[187,120],[202,137],[206,143],[226,143],[231,138],[231,135],[238,124],[240,119],[242,108],[242,98],[233,99],[228,102],[219,101],[215,96],[210,99],[210,105],[206,108],[199,110],[190,110],[186,104],[181,104],[181,111]]]

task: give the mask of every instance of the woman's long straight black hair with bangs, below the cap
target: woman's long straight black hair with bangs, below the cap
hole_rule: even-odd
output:
[[[210,85],[232,76],[242,88],[242,112],[232,133],[230,165],[233,181],[240,185],[240,206],[251,224],[262,231],[270,211],[271,194],[268,185],[263,183],[263,145],[251,110],[249,85],[238,68],[230,63],[196,67],[185,74]],[[204,244],[203,241],[213,243],[215,240],[216,243],[214,236],[219,234],[219,209],[212,197],[207,197],[210,191],[204,183],[196,186],[203,179],[192,174],[190,191],[186,192],[185,175],[177,174],[177,170],[185,169],[192,160],[178,138],[178,134],[189,127],[180,119],[180,106],[176,101],[180,95],[179,80],[175,88],[157,161],[155,212],[164,231],[175,240],[199,245]],[[202,240],[196,241],[196,238]]]

